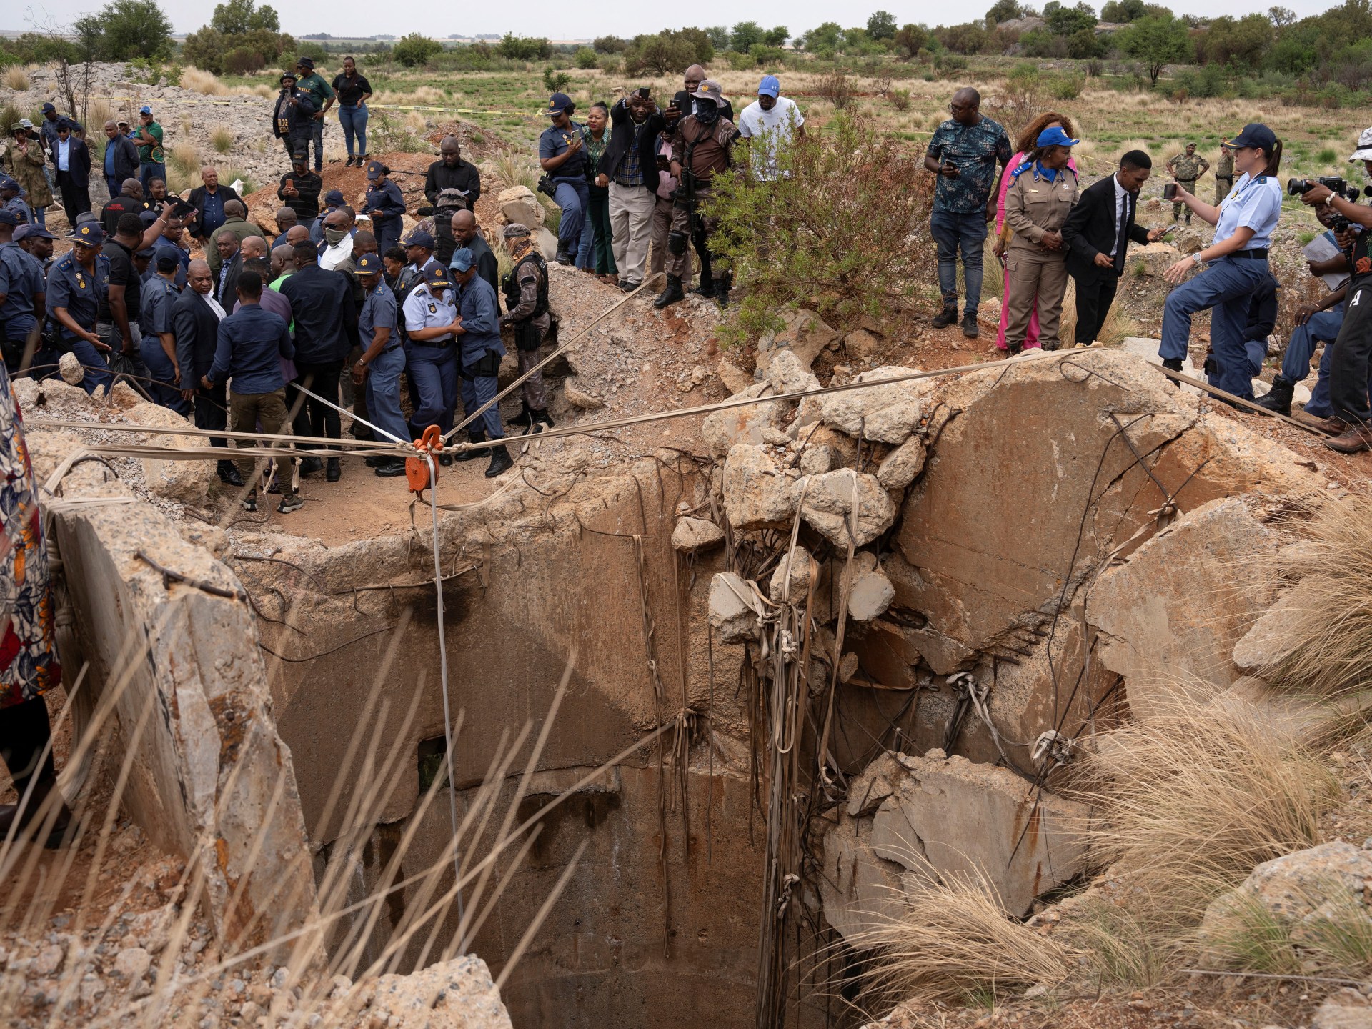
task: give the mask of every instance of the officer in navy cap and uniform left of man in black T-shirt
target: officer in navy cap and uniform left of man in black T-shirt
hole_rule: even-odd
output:
[[[85,221],[73,233],[73,247],[48,273],[48,317],[56,321],[58,348],[75,354],[85,370],[81,388],[106,392],[114,384],[104,354],[110,346],[96,335],[100,302],[110,291],[110,259],[100,252],[104,229]]]

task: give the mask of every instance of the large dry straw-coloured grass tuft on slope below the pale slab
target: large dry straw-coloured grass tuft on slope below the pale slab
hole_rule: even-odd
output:
[[[1338,782],[1255,709],[1183,704],[1100,737],[1083,831],[1146,936],[1180,938],[1259,864],[1320,841]]]

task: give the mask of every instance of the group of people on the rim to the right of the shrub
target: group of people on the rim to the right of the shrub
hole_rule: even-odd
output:
[[[1092,346],[1114,303],[1129,243],[1147,244],[1172,230],[1146,229],[1136,221],[1139,192],[1152,174],[1151,158],[1129,151],[1111,176],[1083,189],[1072,156],[1080,140],[1073,139],[1066,115],[1043,114],[1011,147],[1004,128],[981,114],[977,91],[954,93],[948,113],[952,117],[934,132],[925,155],[925,166],[937,176],[929,228],[943,295],[932,324],[947,328],[959,321],[960,258],[962,332],[971,339],[980,335],[982,248],[986,226],[993,224],[992,252],[1004,270],[996,346],[1011,355],[1056,350],[1069,279],[1076,283],[1074,344]],[[1165,368],[1181,372],[1190,354],[1191,320],[1209,310],[1207,381],[1253,402],[1253,379],[1262,370],[1268,336],[1277,321],[1277,283],[1268,251],[1281,214],[1281,143],[1261,122],[1225,140],[1214,167],[1213,204],[1195,193],[1196,180],[1210,167],[1195,151],[1195,144],[1188,144],[1168,162],[1173,181],[1163,196],[1174,204],[1173,222],[1184,210],[1187,222],[1198,217],[1214,226],[1214,236],[1165,272],[1176,288],[1163,305],[1158,353]],[[1362,133],[1349,161],[1364,165],[1372,177],[1372,129]],[[1360,300],[1372,287],[1372,206],[1351,199],[1356,191],[1339,192],[1324,182],[1299,182],[1297,192],[1327,229],[1332,255],[1310,259],[1309,269],[1331,285],[1331,292],[1318,305],[1297,311],[1281,373],[1258,403],[1292,416],[1295,383],[1309,375],[1314,348],[1325,342],[1329,346],[1312,399],[1295,417],[1328,434],[1334,450],[1369,450],[1372,325]]]

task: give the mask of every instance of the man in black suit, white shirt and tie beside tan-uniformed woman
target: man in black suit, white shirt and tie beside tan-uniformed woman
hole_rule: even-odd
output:
[[[1067,273],[1077,283],[1078,347],[1089,347],[1110,314],[1129,240],[1152,243],[1166,229],[1135,225],[1139,189],[1152,174],[1152,161],[1142,150],[1120,158],[1120,170],[1081,192],[1062,226]]]

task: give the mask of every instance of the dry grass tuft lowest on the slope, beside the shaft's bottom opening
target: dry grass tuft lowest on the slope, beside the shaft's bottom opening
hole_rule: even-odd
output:
[[[985,875],[940,881],[929,868],[906,877],[896,903],[897,914],[849,940],[873,959],[863,971],[871,1010],[908,997],[967,1000],[1051,985],[1074,966],[1067,947],[1006,916]]]

